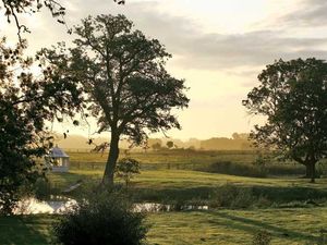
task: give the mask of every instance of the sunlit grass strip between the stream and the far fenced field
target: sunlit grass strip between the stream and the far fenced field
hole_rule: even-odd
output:
[[[68,186],[82,180],[84,187],[90,181],[99,182],[102,171],[71,171],[70,173],[51,173],[49,180],[52,194],[60,194]],[[225,193],[226,185],[240,189],[251,189],[256,198],[265,197],[271,204],[327,199],[327,180],[319,179],[310,184],[299,177],[245,177],[228,174],[206,173],[190,170],[152,170],[142,171],[132,180],[130,188],[136,201],[159,203],[215,203],[217,196]],[[71,196],[77,194],[71,193]],[[249,194],[245,193],[246,195]],[[215,196],[216,195],[216,196]],[[225,195],[225,194],[223,194]]]

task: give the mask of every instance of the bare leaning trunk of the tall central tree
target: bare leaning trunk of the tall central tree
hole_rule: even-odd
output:
[[[110,149],[102,177],[102,184],[113,186],[113,175],[117,159],[119,157],[119,134],[111,133]]]

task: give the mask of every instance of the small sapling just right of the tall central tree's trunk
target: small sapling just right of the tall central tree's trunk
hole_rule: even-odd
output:
[[[133,158],[123,158],[117,162],[116,166],[116,175],[121,177],[126,187],[129,187],[129,183],[135,174],[140,173],[140,162]]]

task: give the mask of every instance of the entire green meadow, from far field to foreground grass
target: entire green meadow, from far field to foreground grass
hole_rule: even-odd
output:
[[[63,189],[80,181],[82,189],[101,181],[106,155],[70,156],[70,172],[47,174],[46,194],[62,195]],[[141,174],[132,179],[128,189],[131,197],[136,203],[174,207],[173,211],[148,213],[149,244],[252,244],[259,231],[267,231],[276,245],[323,244],[326,238],[324,169],[317,183],[311,184],[299,174],[302,167],[292,162],[270,162],[270,168],[281,170],[279,175],[242,176],[243,166],[257,168],[254,151],[152,151],[128,156],[141,161]],[[228,167],[235,174],[219,173],[220,168],[215,172],[216,167],[211,168],[226,162],[230,162]],[[123,187],[121,181],[118,185]],[[66,195],[75,197],[80,191]],[[230,195],[234,191],[238,196]],[[233,200],[225,204],[228,198]],[[207,205],[209,210],[182,210],[187,205]],[[0,244],[49,244],[51,225],[57,219],[58,216],[47,215],[2,217]]]

